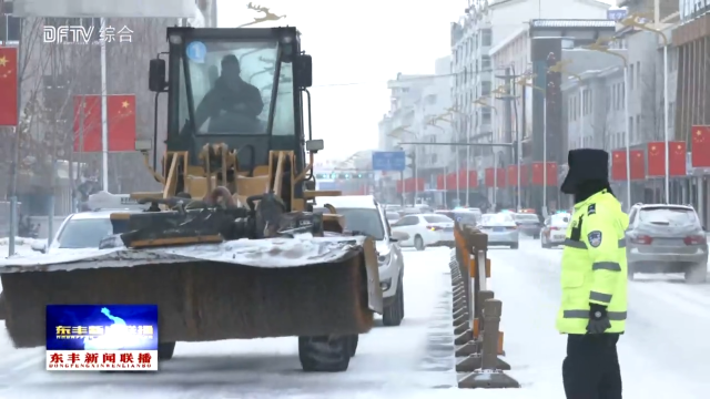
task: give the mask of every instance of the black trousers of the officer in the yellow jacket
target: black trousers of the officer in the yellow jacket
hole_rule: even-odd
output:
[[[567,399],[621,399],[618,334],[569,335],[562,380]]]

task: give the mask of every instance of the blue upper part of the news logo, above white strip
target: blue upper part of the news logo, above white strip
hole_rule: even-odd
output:
[[[158,350],[156,305],[48,305],[47,350]]]

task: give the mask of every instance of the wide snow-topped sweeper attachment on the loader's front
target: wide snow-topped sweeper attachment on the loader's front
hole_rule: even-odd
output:
[[[165,342],[359,334],[382,313],[365,237],[82,249],[3,259],[0,274],[18,348],[44,345],[50,304],[155,304]]]

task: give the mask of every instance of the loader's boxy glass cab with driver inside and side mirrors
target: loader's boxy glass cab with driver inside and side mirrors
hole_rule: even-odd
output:
[[[168,62],[151,61],[149,84],[168,92],[169,152],[189,151],[194,165],[205,144],[224,143],[246,171],[267,164],[268,151],[294,151],[296,172],[304,168],[312,68],[295,28],[169,28],[168,41]]]

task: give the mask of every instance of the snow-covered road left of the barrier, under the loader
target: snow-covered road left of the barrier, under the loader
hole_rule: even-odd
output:
[[[399,327],[376,327],[362,335],[357,355],[344,374],[301,371],[295,338],[179,342],[175,357],[156,375],[47,372],[43,350],[13,349],[1,332],[0,398],[389,398],[432,393],[434,387],[456,385],[450,371],[453,346],[427,345],[453,339],[450,278],[445,274],[448,254],[447,248],[405,249],[405,320]]]

